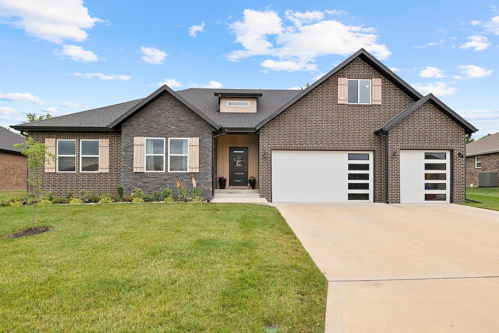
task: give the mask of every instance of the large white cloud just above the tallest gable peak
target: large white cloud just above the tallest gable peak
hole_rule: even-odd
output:
[[[349,55],[365,48],[376,57],[384,59],[391,52],[377,43],[374,28],[362,25],[344,25],[337,20],[325,19],[329,12],[286,10],[286,25],[276,11],[244,10],[244,18],[230,25],[236,42],[243,49],[226,55],[238,61],[252,56],[270,56],[261,64],[272,70],[316,70],[313,64],[320,55]]]

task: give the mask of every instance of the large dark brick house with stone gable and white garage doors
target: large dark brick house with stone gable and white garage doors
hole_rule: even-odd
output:
[[[162,86],[144,99],[12,126],[57,155],[47,189],[230,189],[274,202],[464,202],[465,136],[438,98],[360,49],[305,90]]]

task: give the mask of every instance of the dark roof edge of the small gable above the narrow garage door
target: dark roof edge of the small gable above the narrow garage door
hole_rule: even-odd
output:
[[[426,102],[430,102],[435,107],[437,107],[440,111],[444,112],[449,118],[454,120],[458,125],[460,125],[462,128],[464,128],[466,134],[471,134],[475,133],[477,129],[470,124],[468,121],[466,121],[464,118],[462,118],[459,114],[454,112],[452,109],[450,109],[447,105],[442,103],[440,99],[435,97],[433,94],[428,94],[425,97],[415,101],[413,104],[411,104],[409,107],[407,107],[404,111],[400,112],[398,115],[390,119],[386,124],[384,124],[381,128],[376,130],[374,133],[380,133],[380,132],[388,132],[393,126],[397,125],[400,121],[402,121],[405,117],[410,115],[412,112],[417,110],[421,105],[423,105]]]

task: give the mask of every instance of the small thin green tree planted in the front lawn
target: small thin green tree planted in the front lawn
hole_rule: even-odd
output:
[[[23,143],[14,144],[14,147],[22,148],[21,153],[27,157],[27,167],[29,170],[28,184],[33,186],[33,213],[31,215],[31,229],[34,229],[34,208],[36,202],[41,198],[43,190],[41,188],[41,177],[36,174],[36,169],[45,165],[45,159],[55,161],[55,155],[47,152],[45,145],[35,142],[32,137]]]

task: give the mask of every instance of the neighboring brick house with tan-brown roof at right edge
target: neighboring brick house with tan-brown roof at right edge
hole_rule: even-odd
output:
[[[466,145],[466,186],[478,186],[478,173],[499,171],[499,133]]]

